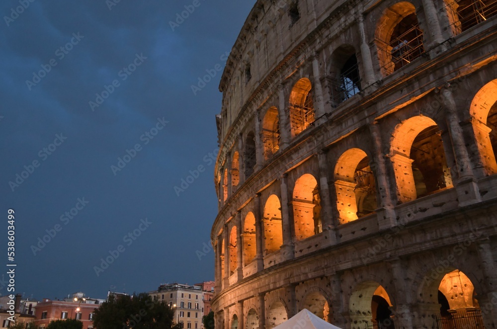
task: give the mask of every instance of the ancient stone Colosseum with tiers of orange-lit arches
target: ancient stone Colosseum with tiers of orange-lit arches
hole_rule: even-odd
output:
[[[497,328],[497,0],[257,0],[219,88],[217,329]]]

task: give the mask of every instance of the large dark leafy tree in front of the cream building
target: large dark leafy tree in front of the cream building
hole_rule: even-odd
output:
[[[146,294],[109,296],[93,316],[95,328],[105,329],[178,329],[174,312],[164,302],[153,301]]]

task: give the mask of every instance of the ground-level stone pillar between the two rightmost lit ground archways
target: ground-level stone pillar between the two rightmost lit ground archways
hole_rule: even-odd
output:
[[[390,262],[392,277],[395,286],[394,323],[395,328],[415,328],[413,325],[414,315],[411,313],[411,298],[409,284],[414,278],[408,277],[406,262],[395,259]]]

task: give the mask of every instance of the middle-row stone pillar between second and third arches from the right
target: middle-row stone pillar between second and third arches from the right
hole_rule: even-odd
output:
[[[378,225],[380,229],[389,228],[396,224],[396,215],[394,210],[394,201],[390,193],[390,179],[387,175],[387,166],[382,152],[382,141],[378,122],[373,122],[369,125],[369,132],[373,139],[374,150],[374,171],[376,186],[378,187],[378,195],[380,196],[380,206],[384,209],[384,216],[378,216]],[[383,215],[383,214],[382,214]],[[381,217],[381,218],[380,218]],[[385,218],[383,220],[383,218]]]

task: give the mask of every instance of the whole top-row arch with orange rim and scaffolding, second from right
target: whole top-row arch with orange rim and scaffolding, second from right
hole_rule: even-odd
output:
[[[424,54],[423,32],[411,2],[401,1],[384,11],[376,27],[376,44],[384,75]]]

